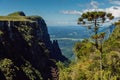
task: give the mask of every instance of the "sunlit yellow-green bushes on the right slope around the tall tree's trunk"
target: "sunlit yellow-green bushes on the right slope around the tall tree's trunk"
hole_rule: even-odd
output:
[[[120,79],[120,24],[110,38],[103,43],[102,71],[100,70],[100,51],[93,42],[84,40],[74,46],[76,61],[65,66],[58,63],[60,80],[119,80]]]

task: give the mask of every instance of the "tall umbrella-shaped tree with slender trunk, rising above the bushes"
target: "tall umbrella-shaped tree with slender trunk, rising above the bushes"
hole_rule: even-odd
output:
[[[98,31],[103,23],[107,23],[112,19],[114,19],[114,16],[112,16],[111,13],[106,13],[103,11],[85,12],[80,16],[80,18],[78,18],[78,24],[84,25],[88,29],[93,30],[94,32],[94,35],[92,35],[92,39],[95,42],[96,49],[100,51],[100,71],[102,71],[102,42],[104,40],[105,33],[104,32],[98,33]]]

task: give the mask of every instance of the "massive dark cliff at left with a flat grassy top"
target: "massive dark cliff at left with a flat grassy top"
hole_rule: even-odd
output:
[[[0,19],[0,79],[58,80],[55,61],[67,58],[61,53],[59,59],[52,57],[57,54],[53,49],[55,44],[41,17],[12,15]]]

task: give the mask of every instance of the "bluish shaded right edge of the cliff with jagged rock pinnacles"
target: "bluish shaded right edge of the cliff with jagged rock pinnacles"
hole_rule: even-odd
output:
[[[45,23],[45,21],[42,19],[38,19],[39,27],[41,28],[42,32],[44,33],[41,36],[41,40],[45,43],[46,47],[50,50],[50,57],[52,59],[55,59],[56,61],[65,62],[68,61],[68,58],[66,58],[59,47],[57,40],[50,40],[50,35],[48,33],[48,28]],[[41,25],[41,26],[40,26]]]

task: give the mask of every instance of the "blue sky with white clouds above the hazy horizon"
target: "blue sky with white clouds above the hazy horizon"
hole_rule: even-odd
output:
[[[120,0],[0,0],[0,16],[16,11],[43,17],[48,26],[77,26],[85,11],[102,10],[120,17]]]

